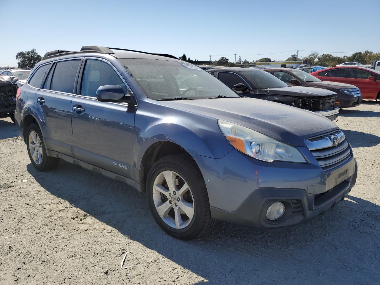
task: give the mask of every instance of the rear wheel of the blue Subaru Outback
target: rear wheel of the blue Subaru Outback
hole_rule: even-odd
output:
[[[30,135],[33,132],[34,132],[34,134],[37,135],[37,137],[35,139],[37,141],[37,144],[34,142],[35,141],[34,139],[32,139],[32,142],[30,142]],[[57,168],[57,166],[59,165],[60,159],[56,158],[56,157],[48,157],[47,156],[46,147],[45,147],[45,144],[43,141],[43,136],[42,136],[40,128],[38,127],[38,125],[36,123],[32,123],[28,127],[26,142],[27,142],[27,149],[28,149],[28,155],[30,158],[30,162],[32,162],[32,165],[36,169],[38,169],[39,171],[48,171],[48,170],[52,170],[54,168]],[[38,153],[36,155],[35,155],[35,149],[31,150],[31,148],[33,148],[33,145],[38,146],[37,147]],[[32,154],[31,154],[31,152],[32,152]],[[39,159],[40,154],[42,154],[41,159]],[[34,158],[32,157],[32,155],[34,155],[33,156]],[[39,161],[36,162],[35,158],[37,158],[37,160],[39,160]]]

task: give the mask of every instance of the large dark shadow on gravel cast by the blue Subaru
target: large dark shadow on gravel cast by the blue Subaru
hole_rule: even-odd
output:
[[[29,164],[27,171],[52,195],[199,275],[204,281],[197,284],[380,280],[380,207],[355,195],[299,226],[262,231],[219,223],[203,237],[185,242],[165,234],[145,195],[122,182],[65,162],[43,173]],[[116,258],[115,264],[120,262]]]

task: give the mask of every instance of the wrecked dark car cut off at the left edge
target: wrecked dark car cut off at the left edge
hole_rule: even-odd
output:
[[[13,122],[18,80],[15,76],[0,76],[0,118],[11,117]]]

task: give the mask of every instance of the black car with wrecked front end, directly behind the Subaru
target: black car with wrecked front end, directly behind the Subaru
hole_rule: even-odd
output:
[[[282,103],[337,120],[336,93],[330,90],[290,87],[275,76],[254,68],[220,68],[208,72],[243,97]]]

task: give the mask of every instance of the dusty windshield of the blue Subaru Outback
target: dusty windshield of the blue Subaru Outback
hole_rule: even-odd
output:
[[[160,59],[119,59],[147,97],[172,100],[239,97],[215,76],[190,63]]]

